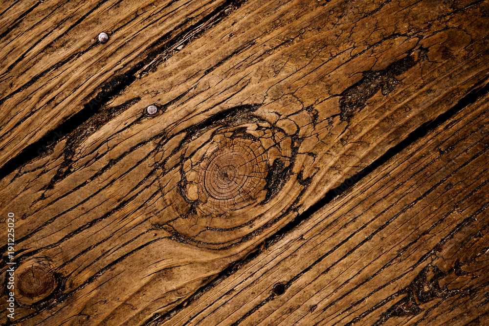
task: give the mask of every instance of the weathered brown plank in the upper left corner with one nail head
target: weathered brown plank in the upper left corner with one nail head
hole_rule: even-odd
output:
[[[67,133],[57,127],[76,113],[77,119],[93,114],[223,3],[12,3],[0,17],[0,167],[49,131]],[[110,35],[105,44],[97,41],[103,31]]]

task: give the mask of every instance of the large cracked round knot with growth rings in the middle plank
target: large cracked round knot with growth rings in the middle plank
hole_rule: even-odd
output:
[[[173,156],[179,169],[160,180],[166,206],[152,222],[178,234],[175,239],[209,248],[240,241],[267,222],[287,181],[291,136],[257,117],[226,122],[182,137]]]

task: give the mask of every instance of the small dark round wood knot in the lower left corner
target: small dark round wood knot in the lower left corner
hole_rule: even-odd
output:
[[[53,274],[44,266],[27,267],[19,274],[17,282],[19,293],[29,299],[44,299],[54,289]]]

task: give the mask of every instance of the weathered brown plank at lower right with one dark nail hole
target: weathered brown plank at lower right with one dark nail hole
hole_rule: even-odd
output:
[[[485,96],[151,325],[485,325],[488,123]]]

